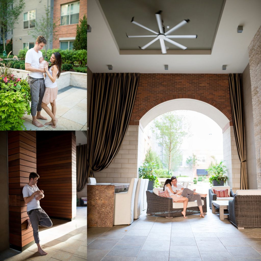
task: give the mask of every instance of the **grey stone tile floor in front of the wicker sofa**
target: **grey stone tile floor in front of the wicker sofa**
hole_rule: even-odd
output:
[[[166,219],[145,212],[130,226],[88,227],[88,261],[261,260],[261,228],[238,230],[213,214],[208,200],[205,218]]]

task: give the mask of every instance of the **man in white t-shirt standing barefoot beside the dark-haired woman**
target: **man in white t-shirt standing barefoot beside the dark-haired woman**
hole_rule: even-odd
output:
[[[46,39],[42,35],[38,36],[34,47],[29,49],[25,55],[25,69],[30,71],[28,84],[30,85],[31,92],[31,114],[33,117],[32,124],[36,127],[44,126],[37,119],[47,120],[46,117],[41,115],[41,104],[45,91],[43,75],[45,69],[39,69],[39,58],[43,57],[40,50],[43,49],[46,43]]]

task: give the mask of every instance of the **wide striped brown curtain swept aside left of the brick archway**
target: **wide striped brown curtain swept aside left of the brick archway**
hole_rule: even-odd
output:
[[[139,73],[94,73],[88,132],[87,177],[107,168],[126,134]]]

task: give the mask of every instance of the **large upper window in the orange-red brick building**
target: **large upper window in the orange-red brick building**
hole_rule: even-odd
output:
[[[79,22],[80,1],[61,5],[61,25]]]

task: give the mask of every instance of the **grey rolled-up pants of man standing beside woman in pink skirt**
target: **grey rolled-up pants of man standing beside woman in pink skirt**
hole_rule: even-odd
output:
[[[31,93],[31,115],[35,116],[37,111],[42,109],[42,100],[44,97],[44,79],[28,79]]]

